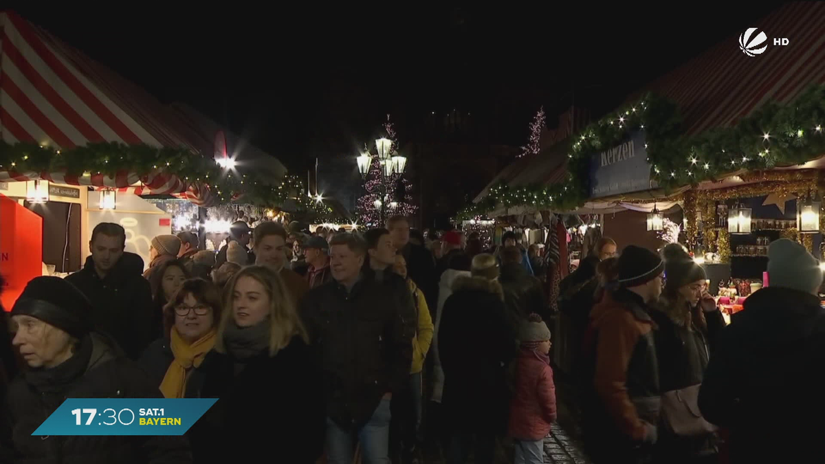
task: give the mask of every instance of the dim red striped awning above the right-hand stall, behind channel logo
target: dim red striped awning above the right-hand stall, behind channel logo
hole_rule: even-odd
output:
[[[768,39],[762,54],[739,48],[738,31],[667,73],[645,92],[657,92],[679,106],[686,135],[735,125],[766,102],[788,103],[813,83],[825,83],[825,2],[789,2],[750,26]],[[788,45],[773,45],[774,39]]]

